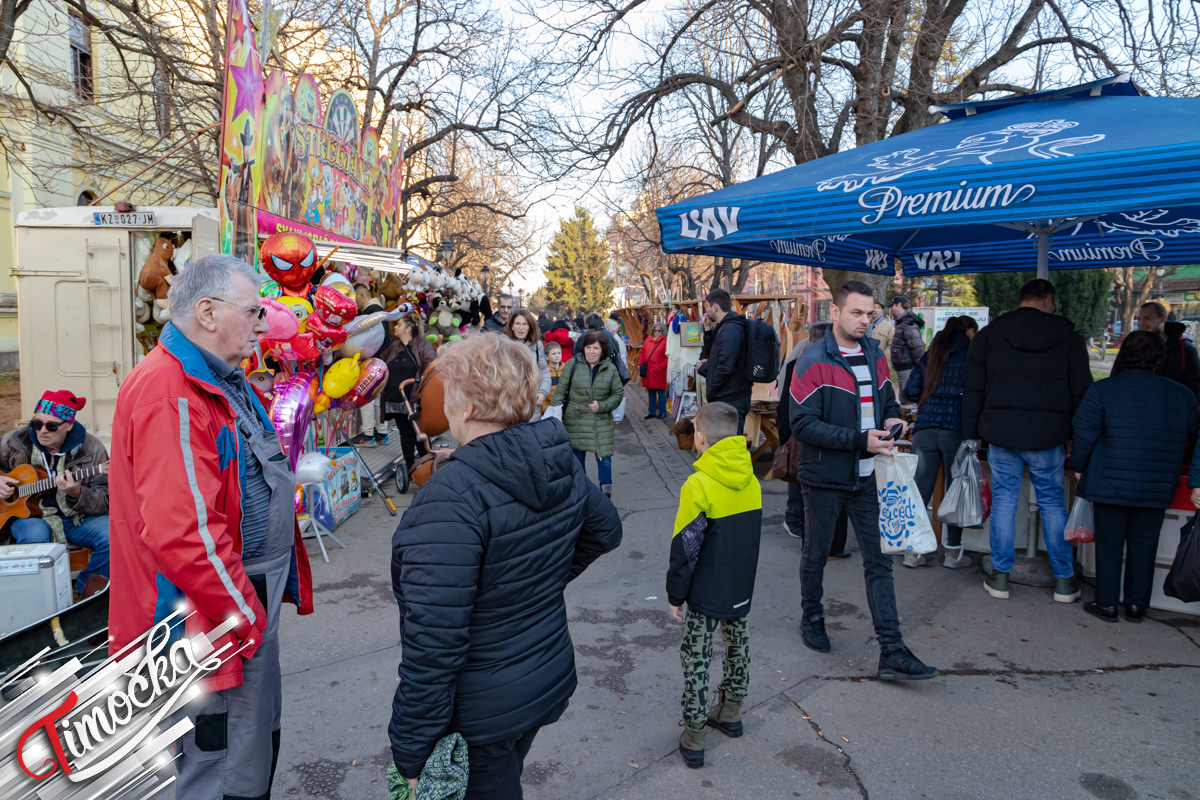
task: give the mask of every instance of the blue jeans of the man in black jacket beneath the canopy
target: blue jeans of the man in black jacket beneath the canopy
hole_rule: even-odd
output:
[[[1030,468],[1030,481],[1042,511],[1042,537],[1056,578],[1075,577],[1075,558],[1063,533],[1067,529],[1067,501],[1063,489],[1063,464],[1067,451],[1006,450],[988,445],[991,464],[991,565],[996,572],[1013,569],[1013,542],[1016,539],[1016,504],[1021,497],[1021,476]],[[1033,535],[1033,531],[1030,531]]]

